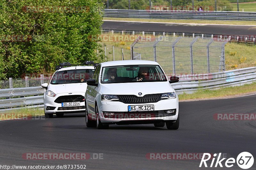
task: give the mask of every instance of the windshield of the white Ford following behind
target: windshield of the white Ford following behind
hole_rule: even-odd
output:
[[[57,71],[52,77],[51,84],[86,83],[86,80],[92,78],[93,72],[92,69]]]

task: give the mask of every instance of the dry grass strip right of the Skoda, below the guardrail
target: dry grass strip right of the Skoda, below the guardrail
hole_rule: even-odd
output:
[[[193,94],[180,94],[179,101],[182,100],[195,100],[195,99],[208,99],[208,98],[220,98],[227,96],[235,96],[246,94],[250,92],[256,92],[256,82],[248,85],[220,88],[219,90],[203,90],[199,89]]]

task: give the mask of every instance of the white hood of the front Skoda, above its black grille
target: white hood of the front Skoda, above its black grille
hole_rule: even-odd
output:
[[[157,94],[174,92],[174,89],[169,82],[134,82],[134,83],[111,83],[101,84],[100,92],[102,94],[122,94],[122,95],[136,95],[141,92],[142,96],[146,94]]]

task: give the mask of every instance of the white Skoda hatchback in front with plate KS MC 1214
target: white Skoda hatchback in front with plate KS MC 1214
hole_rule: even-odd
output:
[[[153,61],[126,60],[100,63],[85,92],[87,127],[109,124],[154,124],[179,128],[179,101],[161,66]]]

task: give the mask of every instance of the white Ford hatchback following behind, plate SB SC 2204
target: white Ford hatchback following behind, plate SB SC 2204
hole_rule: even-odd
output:
[[[65,66],[65,65],[64,65]],[[44,115],[63,117],[65,113],[84,112],[86,80],[92,78],[94,66],[60,67],[52,76],[50,84],[42,84],[44,93]]]

